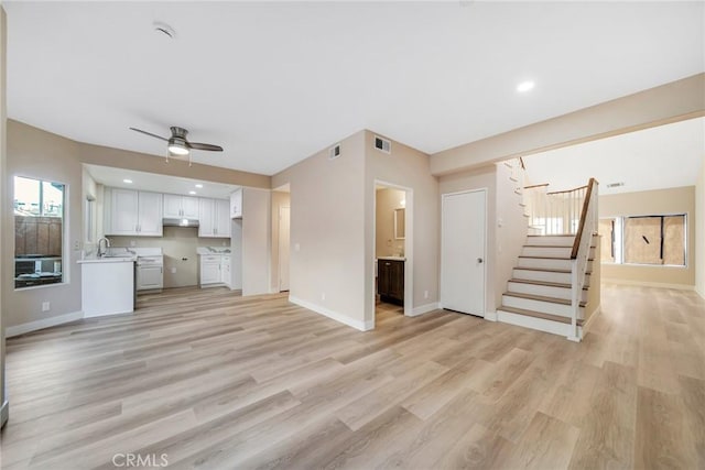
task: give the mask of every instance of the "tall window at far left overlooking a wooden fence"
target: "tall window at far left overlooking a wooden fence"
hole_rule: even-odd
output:
[[[14,177],[14,287],[64,280],[64,201],[61,183]]]

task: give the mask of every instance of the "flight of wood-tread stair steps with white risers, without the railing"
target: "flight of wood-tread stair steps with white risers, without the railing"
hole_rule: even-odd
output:
[[[574,234],[527,237],[512,277],[497,309],[497,320],[571,337],[572,294],[571,252]],[[577,337],[583,336],[583,319],[597,237],[593,237],[585,282],[579,292]]]

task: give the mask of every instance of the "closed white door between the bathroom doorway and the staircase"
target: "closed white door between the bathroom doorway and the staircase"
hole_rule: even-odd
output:
[[[486,192],[444,194],[441,233],[443,308],[485,316]]]

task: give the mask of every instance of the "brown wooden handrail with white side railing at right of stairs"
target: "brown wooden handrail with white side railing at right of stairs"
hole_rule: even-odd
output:
[[[597,231],[597,194],[599,183],[590,178],[587,184],[587,193],[583,201],[581,220],[571,251],[571,336],[568,339],[579,341],[577,320],[581,311],[581,297],[585,285],[585,273],[589,261],[593,234]]]

